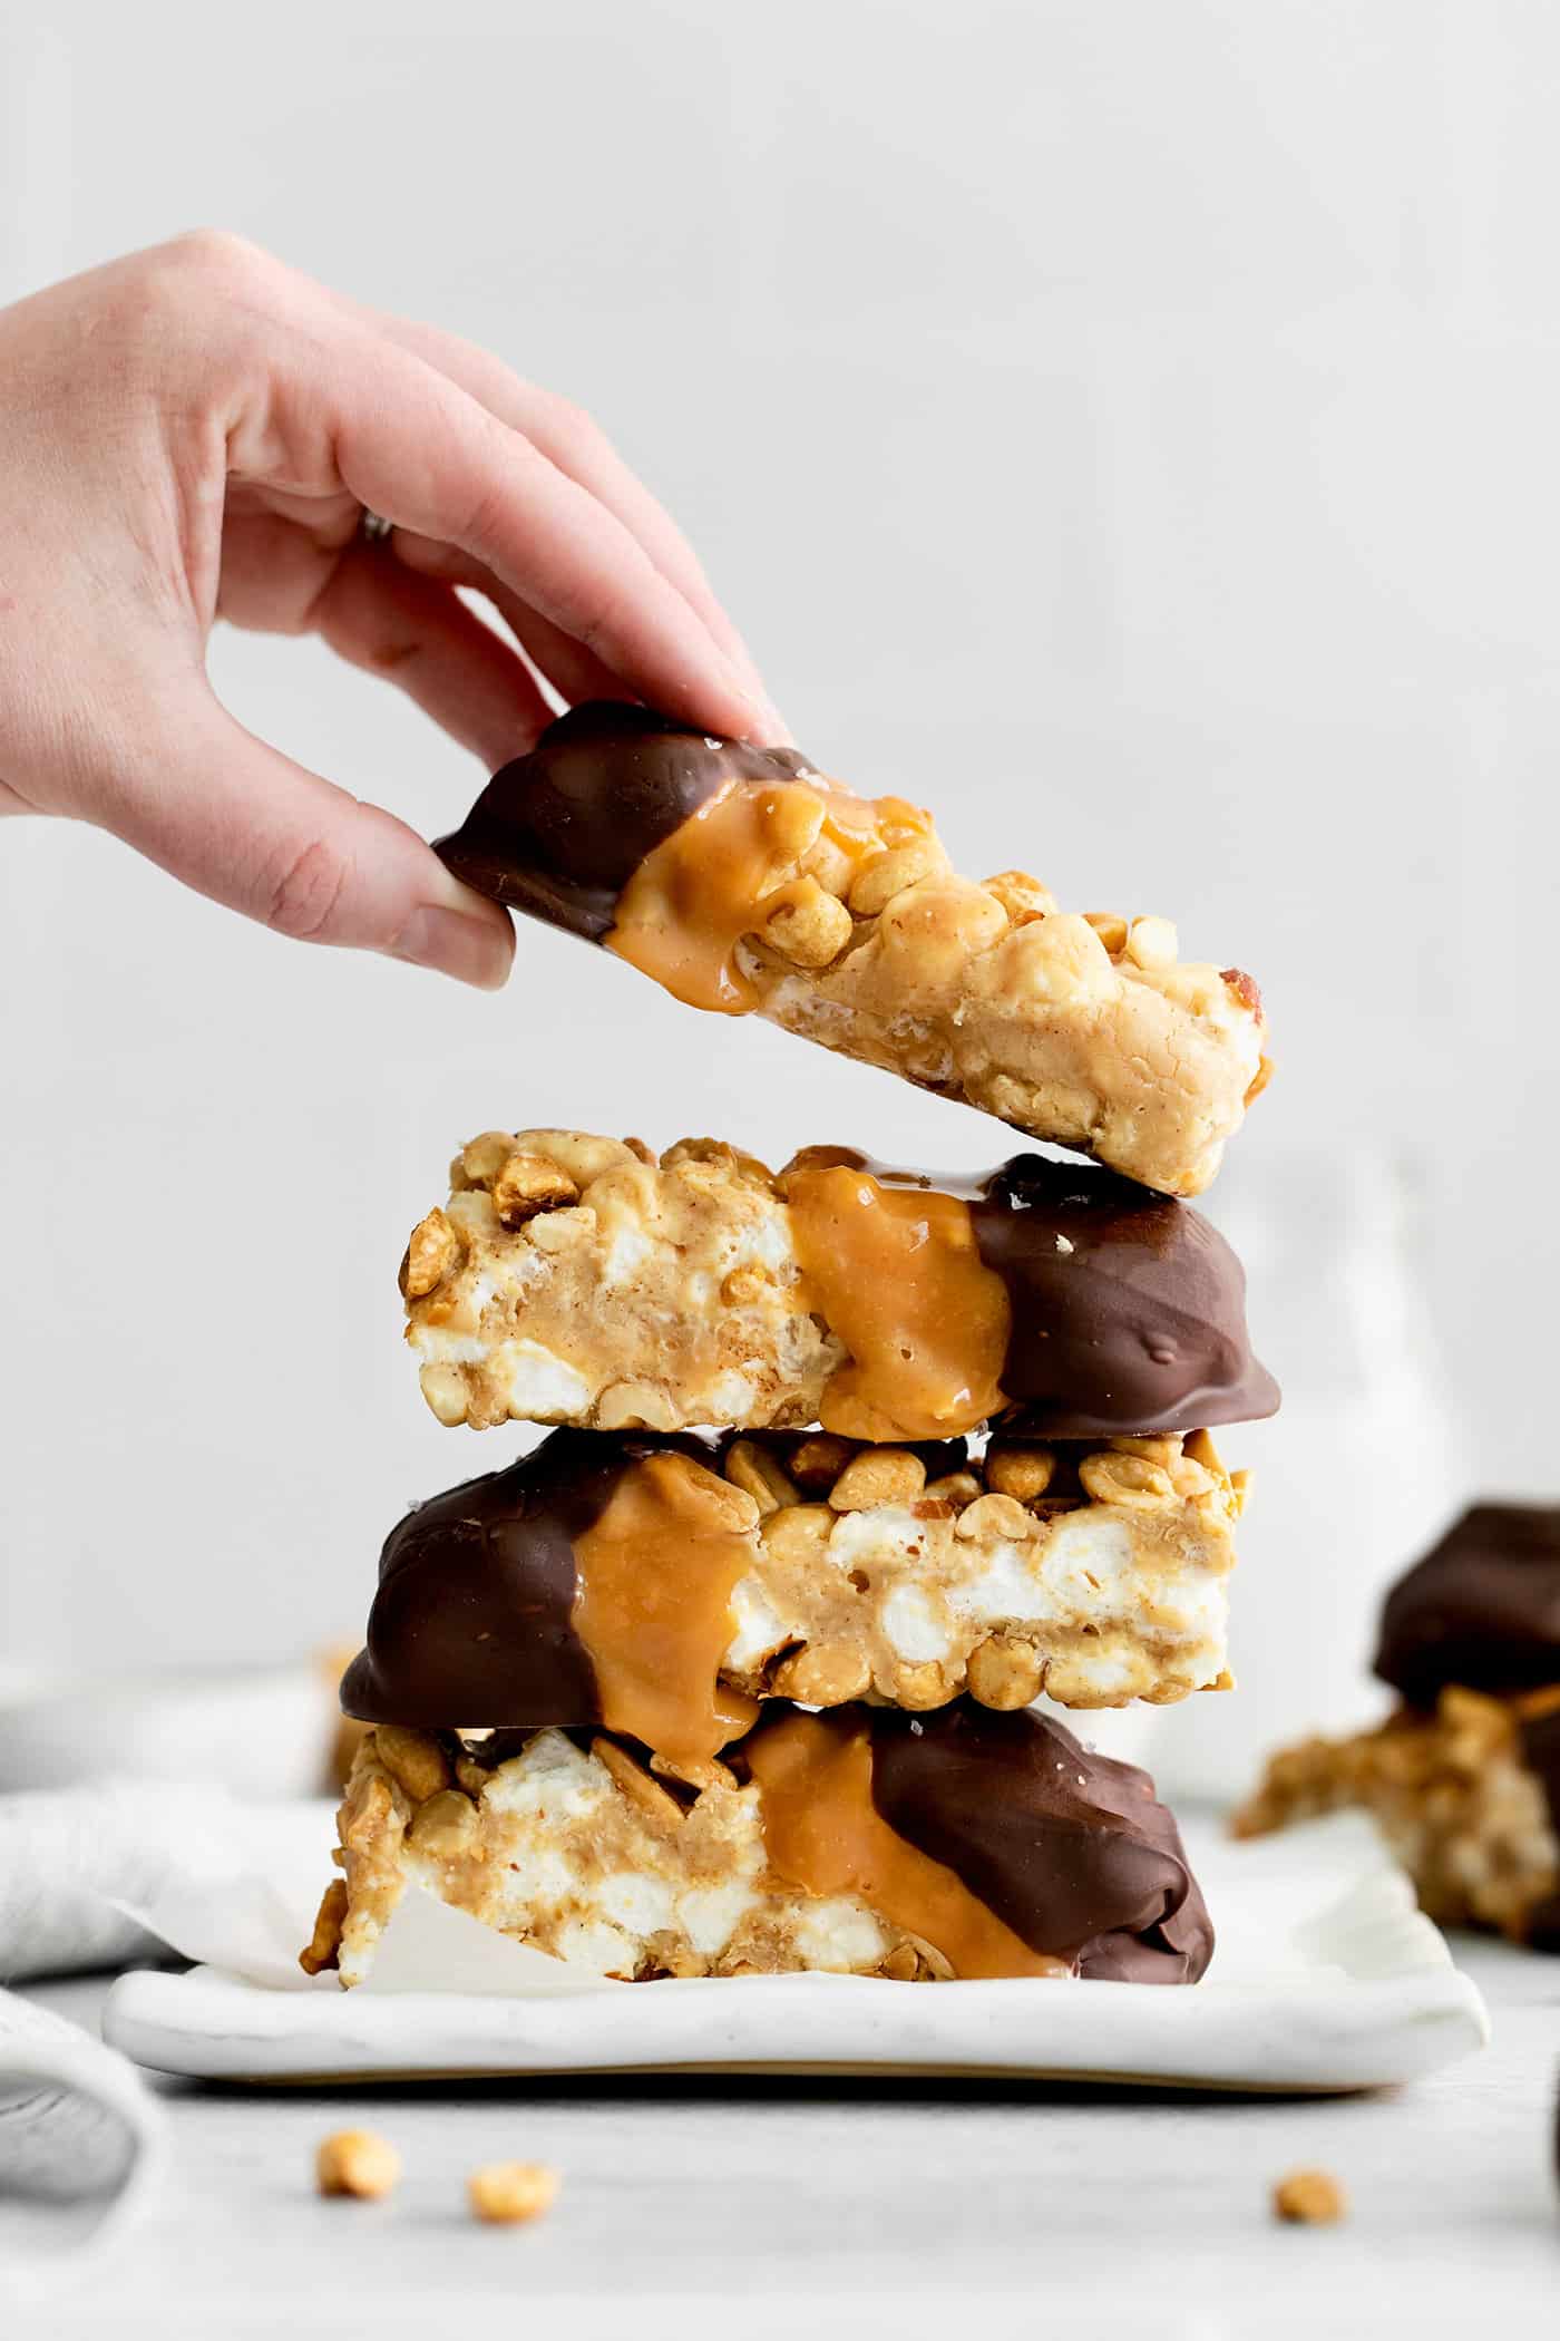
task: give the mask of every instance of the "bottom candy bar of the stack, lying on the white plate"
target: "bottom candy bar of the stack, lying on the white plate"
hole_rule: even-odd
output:
[[[339,1814],[309,1962],[360,1983],[407,1887],[624,1980],[821,1969],[893,1980],[1195,1983],[1214,1936],[1174,1819],[1064,1725],[769,1709],[697,1784],[554,1728],[384,1725]]]

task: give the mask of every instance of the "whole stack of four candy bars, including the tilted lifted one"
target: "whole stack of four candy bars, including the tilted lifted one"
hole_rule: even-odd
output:
[[[358,1983],[412,1885],[636,1980],[1195,1983],[1174,1819],[1031,1702],[1230,1683],[1244,1475],[1209,1430],[1277,1388],[1176,1196],[1265,1079],[1251,981],[629,707],[554,723],[442,852],[690,1004],[1095,1161],[461,1149],[400,1276],[423,1398],[559,1428],[386,1540],[304,1964]]]

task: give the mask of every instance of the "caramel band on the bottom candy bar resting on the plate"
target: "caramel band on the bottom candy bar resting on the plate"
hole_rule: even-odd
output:
[[[762,1793],[765,1852],[788,1885],[854,1894],[940,1950],[954,1976],[1062,1976],[931,1854],[889,1828],[872,1803],[872,1739],[840,1716],[786,1716],[748,1746]]]

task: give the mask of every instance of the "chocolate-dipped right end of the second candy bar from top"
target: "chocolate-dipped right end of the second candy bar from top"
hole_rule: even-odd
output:
[[[1275,1414],[1251,1355],[1247,1276],[1188,1203],[1113,1170],[1017,1154],[971,1199],[1008,1288],[1003,1393],[1020,1437],[1204,1430]]]

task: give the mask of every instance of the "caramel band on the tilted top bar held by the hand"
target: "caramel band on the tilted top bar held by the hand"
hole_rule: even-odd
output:
[[[762,927],[819,838],[856,866],[929,826],[929,815],[898,796],[868,803],[823,777],[727,780],[639,864],[606,948],[688,1007],[746,1016],[755,993],[737,967],[737,943]]]

